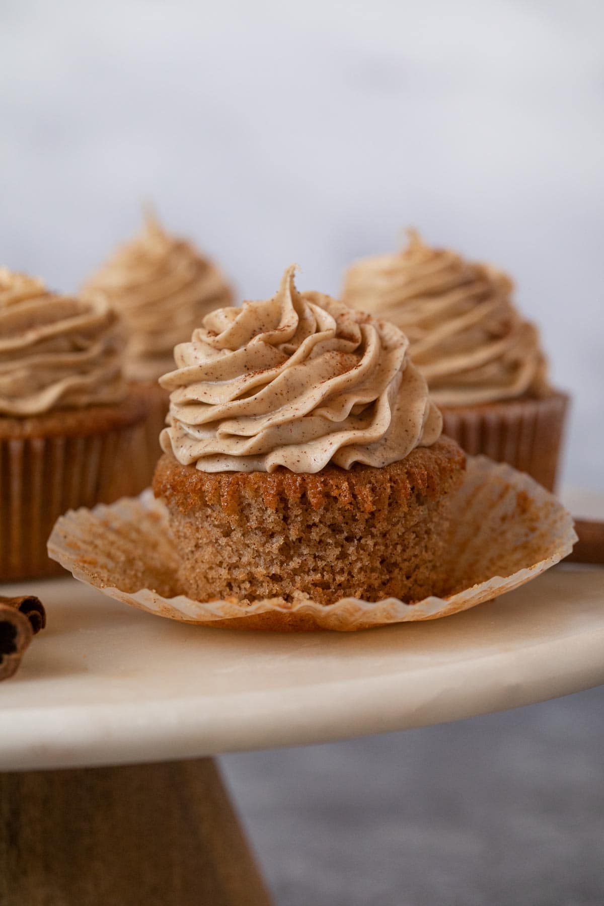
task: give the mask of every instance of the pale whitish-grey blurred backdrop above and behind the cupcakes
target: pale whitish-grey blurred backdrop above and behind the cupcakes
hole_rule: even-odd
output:
[[[0,259],[77,285],[153,199],[241,294],[428,240],[509,269],[604,487],[598,2],[0,0]]]

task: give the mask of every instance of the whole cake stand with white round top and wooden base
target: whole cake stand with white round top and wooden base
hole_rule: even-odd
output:
[[[266,904],[217,754],[422,727],[604,682],[598,567],[562,564],[445,620],[358,633],[202,629],[71,577],[2,592],[37,594],[49,618],[0,685],[3,906]]]

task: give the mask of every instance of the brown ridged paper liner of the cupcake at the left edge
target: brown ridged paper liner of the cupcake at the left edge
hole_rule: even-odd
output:
[[[0,439],[0,581],[61,573],[46,541],[69,509],[139,491],[141,423],[92,435]]]

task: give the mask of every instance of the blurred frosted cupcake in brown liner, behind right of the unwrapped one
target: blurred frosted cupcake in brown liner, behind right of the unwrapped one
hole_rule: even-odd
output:
[[[551,388],[539,333],[512,294],[501,271],[430,248],[414,230],[398,254],[351,265],[343,292],[407,334],[449,437],[551,490],[569,398]]]

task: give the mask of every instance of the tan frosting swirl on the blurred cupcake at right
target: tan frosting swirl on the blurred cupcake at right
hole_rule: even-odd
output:
[[[549,389],[539,333],[516,311],[512,292],[501,271],[430,248],[409,230],[403,251],[349,268],[344,299],[407,333],[438,405],[474,406]]]

